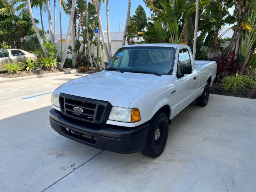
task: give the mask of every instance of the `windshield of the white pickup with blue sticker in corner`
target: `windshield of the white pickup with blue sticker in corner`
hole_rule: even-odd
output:
[[[172,74],[175,49],[170,47],[124,47],[112,57],[105,70]]]

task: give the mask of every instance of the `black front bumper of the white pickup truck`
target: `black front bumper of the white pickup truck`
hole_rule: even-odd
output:
[[[149,124],[137,127],[94,126],[63,116],[55,109],[50,110],[49,119],[51,127],[60,135],[100,150],[128,154],[146,146]]]

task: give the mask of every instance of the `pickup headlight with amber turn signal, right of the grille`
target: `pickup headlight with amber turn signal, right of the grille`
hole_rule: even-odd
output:
[[[113,106],[108,119],[114,121],[134,123],[140,121],[140,111],[138,109]]]

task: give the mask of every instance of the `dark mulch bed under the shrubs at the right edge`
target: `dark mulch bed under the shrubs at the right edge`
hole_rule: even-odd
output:
[[[232,90],[225,90],[224,84],[222,83],[213,83],[210,88],[211,94],[216,95],[226,95],[226,96],[234,96],[234,97],[242,97],[242,98],[250,98],[256,99],[256,89],[243,89],[237,90],[236,92]]]

